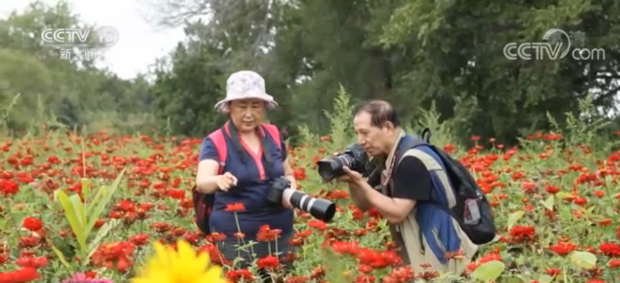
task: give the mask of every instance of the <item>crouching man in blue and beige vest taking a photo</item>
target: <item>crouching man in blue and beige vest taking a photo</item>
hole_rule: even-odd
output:
[[[374,207],[387,219],[403,260],[415,272],[425,265],[441,274],[462,275],[478,247],[439,206],[455,205],[442,164],[430,150],[403,148],[403,141],[414,137],[405,135],[396,112],[386,101],[362,105],[353,124],[365,152],[385,160],[381,164],[385,166],[381,167],[381,192],[374,189],[379,184],[369,184],[360,173],[345,168],[339,180],[348,183],[353,202],[362,210]],[[395,159],[397,152],[403,152],[400,160]]]

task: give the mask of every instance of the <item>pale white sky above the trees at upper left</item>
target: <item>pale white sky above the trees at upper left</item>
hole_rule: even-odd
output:
[[[11,11],[23,11],[32,0],[0,0],[0,18]],[[57,0],[44,0],[56,4]],[[68,0],[82,21],[118,30],[118,43],[108,48],[99,65],[122,79],[146,72],[184,39],[182,27],[164,29],[145,19],[144,0]],[[148,17],[147,17],[148,18]],[[60,56],[60,55],[59,55]]]

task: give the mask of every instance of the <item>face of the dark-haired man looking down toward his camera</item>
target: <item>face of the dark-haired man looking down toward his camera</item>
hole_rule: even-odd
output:
[[[358,145],[370,156],[378,156],[386,153],[386,143],[389,138],[387,127],[380,129],[372,126],[370,114],[361,112],[353,119],[355,134],[358,135]]]

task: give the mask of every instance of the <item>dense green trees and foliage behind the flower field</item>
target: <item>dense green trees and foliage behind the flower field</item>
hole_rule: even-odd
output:
[[[353,102],[390,100],[407,120],[434,103],[462,142],[475,134],[512,145],[552,129],[548,114],[562,122],[564,113],[578,114],[586,97],[597,107],[595,117],[615,117],[620,2],[614,0],[149,2],[146,12],[184,27],[186,39],[153,62],[153,72],[130,81],[94,68],[77,50],[61,60],[57,48],[41,43],[45,28],[88,26],[66,4],[36,3],[0,19],[3,129],[112,126],[121,133],[156,128],[202,136],[222,120],[211,110],[224,96],[226,77],[243,69],[264,75],[282,106],[270,119],[291,132],[300,124],[329,131],[322,114],[333,109],[340,85]],[[503,55],[506,44],[542,41],[554,27],[582,32],[573,46],[603,48],[605,58]],[[121,38],[132,37],[118,29]],[[616,124],[611,128],[606,133]]]

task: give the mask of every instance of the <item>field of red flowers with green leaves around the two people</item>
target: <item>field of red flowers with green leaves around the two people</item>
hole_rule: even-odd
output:
[[[443,146],[488,193],[499,235],[481,247],[465,282],[620,282],[620,152],[588,145],[563,149],[559,135],[529,137],[531,143],[519,149],[474,140],[469,150]],[[255,270],[236,269],[218,256],[213,242],[222,235],[201,235],[193,223],[190,189],[200,143],[52,132],[1,140],[0,282],[72,276],[129,282],[153,242],[174,245],[178,239],[224,265],[230,282],[252,282]],[[441,277],[400,265],[379,213],[362,213],[346,187],[319,181],[312,164],[345,145],[326,136],[289,149],[300,190],[332,199],[339,212],[333,223],[322,223],[298,211],[291,240],[297,249],[284,258],[294,269],[284,282]],[[265,240],[277,235],[264,232],[270,236]],[[272,256],[253,264],[274,274],[278,265]]]

